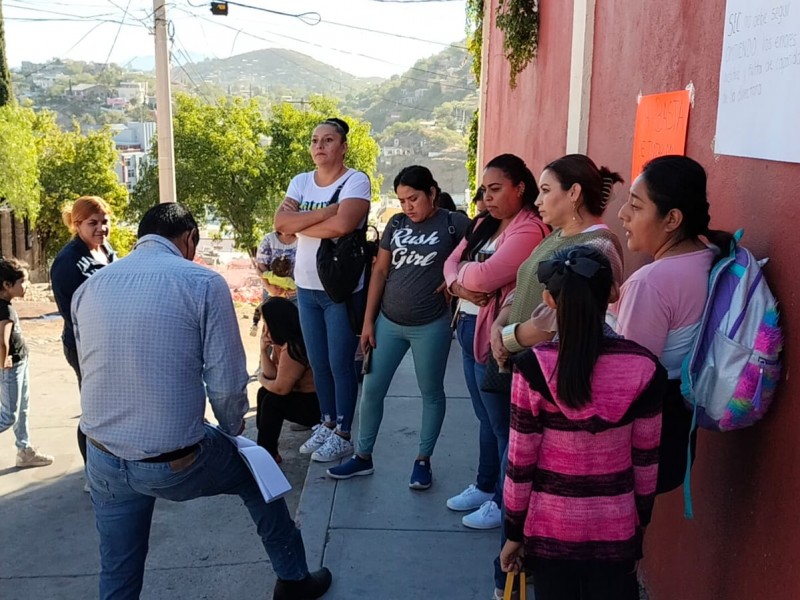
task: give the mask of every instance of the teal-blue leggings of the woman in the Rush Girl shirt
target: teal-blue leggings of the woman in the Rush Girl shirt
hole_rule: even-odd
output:
[[[372,367],[364,376],[359,409],[358,451],[372,454],[375,438],[383,419],[383,401],[400,361],[411,348],[417,385],[422,394],[422,426],[419,431],[419,455],[431,456],[444,423],[446,398],[444,371],[450,352],[450,314],[433,323],[405,326],[386,318],[375,322]]]

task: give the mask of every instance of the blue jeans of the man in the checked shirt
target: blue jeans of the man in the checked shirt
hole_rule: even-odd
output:
[[[283,499],[267,504],[233,444],[213,427],[193,455],[167,463],[128,461],[88,445],[86,474],[100,534],[100,599],[139,598],[156,498],[184,502],[236,494],[256,524],[280,579],[308,573],[300,531]]]

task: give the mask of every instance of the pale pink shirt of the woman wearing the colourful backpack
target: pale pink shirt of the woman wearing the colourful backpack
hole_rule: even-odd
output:
[[[658,356],[670,379],[680,377],[700,326],[714,257],[715,250],[706,248],[645,265],[622,284],[619,300],[609,306],[614,331]]]

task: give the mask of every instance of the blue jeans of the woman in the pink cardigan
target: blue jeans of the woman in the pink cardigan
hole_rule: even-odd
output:
[[[461,314],[456,335],[461,344],[464,378],[472,398],[472,408],[480,422],[478,435],[478,477],[476,485],[484,492],[494,492],[497,506],[503,506],[503,480],[501,461],[508,448],[508,431],[511,426],[511,399],[505,394],[481,391],[486,365],[475,360],[475,315]]]

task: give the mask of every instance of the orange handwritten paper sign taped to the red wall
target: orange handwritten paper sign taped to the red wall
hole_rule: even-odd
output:
[[[688,125],[688,90],[641,97],[633,132],[631,183],[650,159],[684,153]]]

